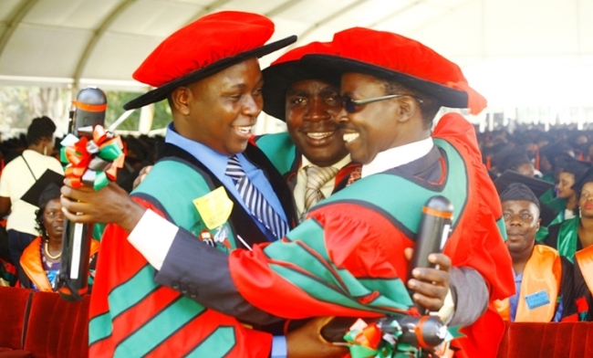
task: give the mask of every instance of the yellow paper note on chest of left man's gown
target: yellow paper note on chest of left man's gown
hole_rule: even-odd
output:
[[[226,195],[224,186],[219,186],[212,192],[193,199],[193,205],[210,230],[222,226],[233,211],[233,201]]]

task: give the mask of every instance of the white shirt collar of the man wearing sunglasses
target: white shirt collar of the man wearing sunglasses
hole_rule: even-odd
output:
[[[361,177],[382,173],[391,168],[411,163],[431,152],[433,146],[432,138],[428,137],[418,142],[411,142],[380,152],[370,163],[362,165]]]

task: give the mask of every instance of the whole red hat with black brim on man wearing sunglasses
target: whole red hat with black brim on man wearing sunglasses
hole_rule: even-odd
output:
[[[459,66],[430,47],[407,37],[354,27],[334,35],[331,55],[307,55],[304,61],[341,73],[359,72],[420,89],[442,106],[469,108],[477,114],[486,100],[473,90]]]

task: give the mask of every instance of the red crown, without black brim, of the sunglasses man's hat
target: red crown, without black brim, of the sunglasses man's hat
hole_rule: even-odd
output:
[[[339,57],[351,58],[451,89],[463,90],[468,95],[468,108],[473,113],[478,113],[486,107],[486,100],[469,87],[459,66],[411,38],[353,27],[334,35],[333,46]]]

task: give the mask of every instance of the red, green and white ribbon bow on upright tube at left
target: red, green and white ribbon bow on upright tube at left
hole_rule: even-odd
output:
[[[105,131],[99,124],[79,128],[78,135],[80,139],[68,134],[61,142],[60,159],[68,163],[64,174],[72,187],[88,185],[99,190],[109,180],[116,180],[125,158],[120,136]]]

